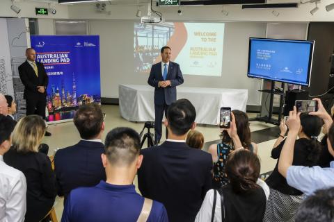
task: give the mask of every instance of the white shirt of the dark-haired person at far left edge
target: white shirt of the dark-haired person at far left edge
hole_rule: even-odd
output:
[[[26,178],[0,155],[0,221],[22,222],[26,214]]]

